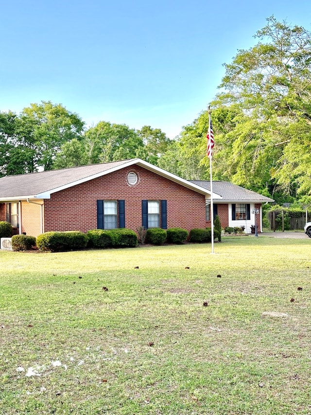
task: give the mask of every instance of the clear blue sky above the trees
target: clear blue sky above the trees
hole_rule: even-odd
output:
[[[206,109],[266,18],[311,30],[310,0],[1,2],[0,111],[61,103],[88,126],[173,138]],[[299,7],[296,7],[298,5]]]

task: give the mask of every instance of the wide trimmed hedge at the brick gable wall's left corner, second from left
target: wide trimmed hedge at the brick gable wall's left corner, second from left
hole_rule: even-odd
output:
[[[70,251],[86,247],[87,236],[80,231],[45,232],[38,235],[36,245],[40,251]]]

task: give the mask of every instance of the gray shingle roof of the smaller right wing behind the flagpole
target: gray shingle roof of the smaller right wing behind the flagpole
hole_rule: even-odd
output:
[[[210,190],[210,182],[208,180],[189,180],[191,183],[204,187]],[[253,192],[252,190],[244,189],[241,186],[230,183],[229,181],[214,181],[213,193],[221,195],[223,198],[221,202],[274,202],[273,199]],[[215,199],[217,200],[217,199]]]

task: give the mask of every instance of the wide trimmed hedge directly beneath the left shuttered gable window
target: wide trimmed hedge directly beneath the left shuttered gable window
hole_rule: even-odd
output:
[[[88,246],[94,248],[135,248],[138,237],[130,229],[93,229],[86,233]]]

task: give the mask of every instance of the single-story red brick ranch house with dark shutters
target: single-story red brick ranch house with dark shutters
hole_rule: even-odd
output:
[[[0,178],[0,220],[16,234],[128,228],[211,226],[209,181],[185,180],[141,159]],[[213,182],[222,227],[255,224],[273,199],[229,182]]]

